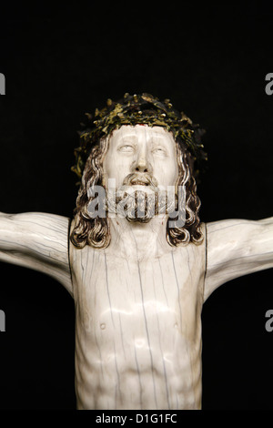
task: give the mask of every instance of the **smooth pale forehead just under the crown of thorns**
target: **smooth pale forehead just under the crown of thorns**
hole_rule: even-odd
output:
[[[115,129],[110,137],[112,143],[117,143],[123,139],[132,139],[137,141],[160,141],[167,145],[174,146],[175,139],[171,132],[167,131],[165,127],[149,127],[147,125],[123,125]]]

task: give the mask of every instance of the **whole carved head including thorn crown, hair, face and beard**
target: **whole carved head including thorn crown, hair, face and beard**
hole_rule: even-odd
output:
[[[141,109],[140,109],[141,108]],[[151,216],[132,216],[129,201],[134,189],[137,201],[149,207],[154,201],[153,214],[158,215],[167,208],[168,187],[176,189],[176,204],[179,205],[177,191],[185,189],[183,200],[185,221],[183,225],[167,220],[166,237],[171,246],[203,240],[198,211],[195,166],[206,158],[200,135],[203,130],[193,125],[184,113],[174,110],[169,100],[161,103],[152,96],[126,96],[123,102],[108,100],[107,107],[96,110],[95,119],[87,115],[89,126],[80,133],[80,147],[76,148],[76,165],[72,169],[81,178],[81,187],[76,199],[75,224],[70,239],[77,248],[86,245],[106,248],[111,240],[109,212],[113,209],[113,199],[109,197],[107,182],[115,182],[115,190],[126,193],[116,203],[126,200],[126,219],[147,222]],[[95,193],[90,189],[106,189],[106,215],[90,215],[90,204],[95,202]],[[139,199],[140,197],[140,199]],[[163,202],[162,202],[163,201]],[[134,199],[135,202],[135,199]],[[156,203],[155,203],[156,202]],[[118,205],[117,205],[118,206]],[[137,202],[134,205],[135,213]],[[173,209],[179,207],[173,207]],[[128,214],[129,213],[129,214]],[[170,214],[171,217],[171,214]]]

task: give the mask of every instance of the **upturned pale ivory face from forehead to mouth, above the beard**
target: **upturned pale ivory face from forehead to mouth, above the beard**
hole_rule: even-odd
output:
[[[178,177],[175,140],[164,127],[122,126],[110,137],[103,169],[105,184],[114,178],[116,189],[124,184],[144,189],[151,179],[167,190]]]

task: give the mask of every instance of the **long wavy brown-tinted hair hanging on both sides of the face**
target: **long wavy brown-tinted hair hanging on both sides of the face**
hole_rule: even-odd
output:
[[[88,206],[92,197],[88,196],[88,189],[93,186],[103,186],[103,161],[109,145],[109,137],[102,138],[91,149],[86,160],[81,187],[76,198],[75,223],[70,234],[70,240],[76,248],[82,249],[90,245],[96,249],[105,249],[111,241],[110,222],[107,218],[90,218]],[[186,190],[186,219],[183,227],[170,228],[167,220],[166,239],[169,245],[176,247],[179,244],[193,242],[199,244],[203,240],[203,234],[198,217],[201,203],[197,196],[197,184],[193,173],[193,159],[176,141],[178,186],[184,186]]]

